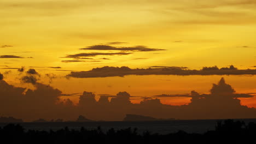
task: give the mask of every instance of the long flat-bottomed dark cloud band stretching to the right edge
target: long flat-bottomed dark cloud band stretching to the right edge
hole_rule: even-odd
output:
[[[67,76],[77,78],[111,77],[125,75],[255,75],[255,69],[238,70],[230,68],[203,67],[201,70],[190,70],[187,67],[164,67],[148,69],[131,69],[129,67],[102,67],[89,71],[72,71]]]

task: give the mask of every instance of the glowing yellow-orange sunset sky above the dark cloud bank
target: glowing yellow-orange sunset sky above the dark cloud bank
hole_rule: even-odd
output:
[[[11,85],[36,89],[22,82],[24,74],[18,71],[35,69],[38,82],[64,94],[94,92],[98,99],[97,94],[126,91],[137,104],[143,100],[137,97],[210,93],[222,77],[237,93],[255,93],[255,71],[70,76],[71,71],[80,75],[106,66],[255,69],[255,8],[253,0],[1,0],[0,73]],[[61,97],[66,98],[79,103],[79,94]],[[159,99],[170,105],[190,103],[188,97]],[[239,99],[256,107],[256,98]]]

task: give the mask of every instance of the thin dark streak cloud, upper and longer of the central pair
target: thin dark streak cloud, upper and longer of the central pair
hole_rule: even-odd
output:
[[[164,49],[150,49],[147,46],[115,47],[109,45],[93,45],[80,50],[118,50],[118,51],[164,51]]]

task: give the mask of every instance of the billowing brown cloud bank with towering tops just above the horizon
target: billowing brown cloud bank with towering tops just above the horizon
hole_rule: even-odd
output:
[[[37,75],[28,75],[37,76]],[[235,93],[234,88],[221,79],[213,84],[210,94],[191,91],[190,94],[168,95],[168,97],[190,97],[187,105],[164,105],[161,97],[142,97],[139,104],[132,104],[132,96],[127,92],[117,95],[98,94],[97,101],[92,92],[62,94],[49,85],[34,82],[35,90],[20,88],[0,81],[0,113],[25,119],[66,118],[85,115],[90,119],[120,121],[127,113],[156,118],[177,119],[226,119],[255,118],[256,109],[242,106],[237,98],[251,98],[248,94]],[[60,101],[60,97],[79,97],[79,104],[70,99]],[[164,95],[165,97],[166,95]],[[110,100],[109,100],[110,99]]]

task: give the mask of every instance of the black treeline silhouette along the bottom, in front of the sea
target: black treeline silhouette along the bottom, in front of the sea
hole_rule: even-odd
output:
[[[0,128],[0,139],[6,143],[255,143],[256,123],[228,119],[219,121],[215,130],[204,134],[177,131],[166,135],[137,129],[72,130],[68,127],[53,131],[25,130],[19,124],[8,124]]]

